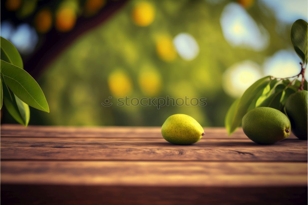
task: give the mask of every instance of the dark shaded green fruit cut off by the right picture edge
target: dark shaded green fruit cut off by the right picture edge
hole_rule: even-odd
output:
[[[299,139],[307,139],[307,90],[291,94],[285,106],[286,114],[290,118],[292,132]]]

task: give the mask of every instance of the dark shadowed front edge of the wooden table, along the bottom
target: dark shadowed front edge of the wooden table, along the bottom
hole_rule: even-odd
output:
[[[1,204],[306,205],[306,187],[1,185]]]

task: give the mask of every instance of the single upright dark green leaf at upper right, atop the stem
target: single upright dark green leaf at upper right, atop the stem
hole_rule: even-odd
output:
[[[308,24],[303,19],[296,20],[291,27],[291,41],[294,50],[303,63],[307,62],[307,28]]]

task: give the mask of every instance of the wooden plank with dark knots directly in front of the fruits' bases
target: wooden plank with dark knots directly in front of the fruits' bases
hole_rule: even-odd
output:
[[[307,161],[307,142],[258,145],[247,139],[211,139],[193,145],[101,139],[1,139],[2,160]]]

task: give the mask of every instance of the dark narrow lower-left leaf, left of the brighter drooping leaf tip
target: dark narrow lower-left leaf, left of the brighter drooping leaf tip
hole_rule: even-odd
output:
[[[2,77],[1,77],[2,78]],[[3,81],[3,79],[2,79]],[[14,94],[9,90],[8,86],[3,81],[3,103],[6,107],[6,110],[10,113],[10,115],[19,123],[26,126],[26,122],[24,118],[21,116]]]

